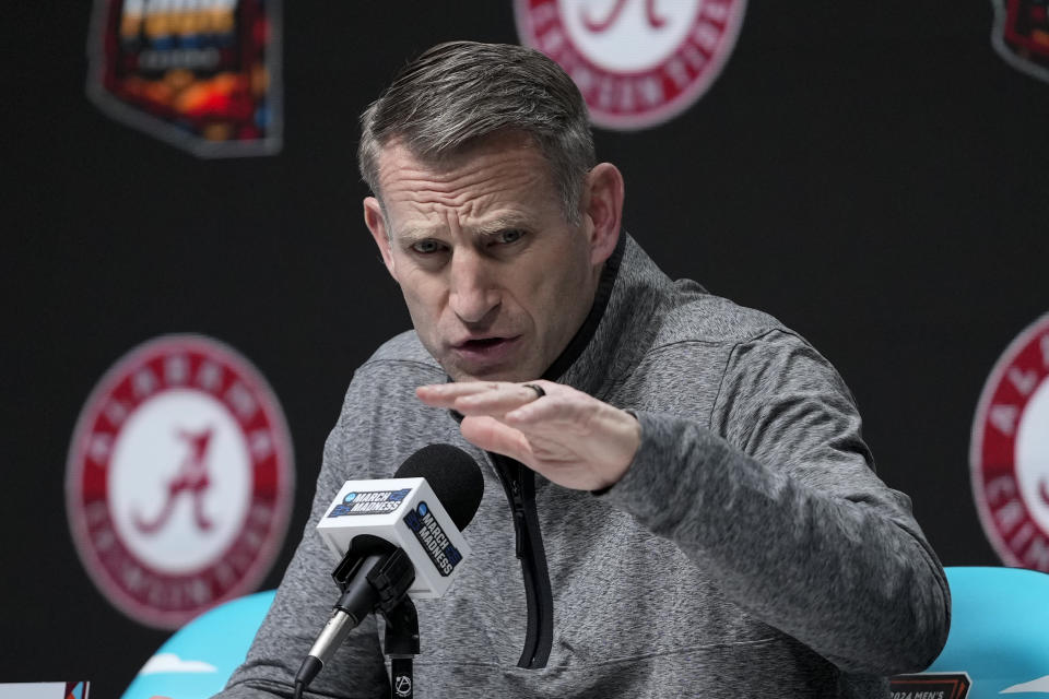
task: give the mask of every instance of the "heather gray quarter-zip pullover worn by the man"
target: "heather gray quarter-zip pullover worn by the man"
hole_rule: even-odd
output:
[[[222,697],[291,694],[337,597],[317,518],[347,478],[441,441],[476,457],[485,494],[461,577],[417,605],[421,698],[887,697],[881,676],[940,651],[943,570],[908,498],[874,475],[835,370],[775,319],[672,283],[628,239],[561,380],[634,411],[644,441],[602,496],[538,478],[554,642],[547,667],[518,668],[526,603],[503,488],[452,417],[414,398],[444,380],[413,333],[356,371],[303,542]],[[307,696],[388,696],[378,638],[368,620]]]

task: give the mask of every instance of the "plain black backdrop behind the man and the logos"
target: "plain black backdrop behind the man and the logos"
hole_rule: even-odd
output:
[[[409,324],[361,218],[356,115],[432,44],[518,39],[510,0],[288,1],[284,149],[209,162],[86,100],[90,12],[5,7],[0,682],[116,697],[167,633],[110,606],[74,553],[63,472],[87,394],[169,332],[262,370],[298,475],[275,585],[353,368]],[[947,565],[998,562],[969,430],[998,355],[1049,308],[1049,84],[994,54],[991,24],[988,2],[752,0],[699,103],[597,134],[626,176],[627,229],[672,276],[775,313],[835,363]]]

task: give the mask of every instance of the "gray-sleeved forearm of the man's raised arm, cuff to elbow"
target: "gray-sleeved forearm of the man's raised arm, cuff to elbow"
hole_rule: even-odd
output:
[[[891,675],[935,657],[946,579],[906,505],[873,474],[856,470],[856,496],[842,498],[687,420],[639,418],[641,449],[608,497],[716,567],[728,597],[848,672]]]

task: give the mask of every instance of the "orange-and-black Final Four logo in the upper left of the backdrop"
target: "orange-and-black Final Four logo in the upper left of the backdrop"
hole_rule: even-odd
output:
[[[87,95],[200,157],[281,149],[280,0],[95,0]]]

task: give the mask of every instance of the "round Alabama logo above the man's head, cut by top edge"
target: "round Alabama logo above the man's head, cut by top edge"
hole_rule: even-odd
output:
[[[514,0],[521,42],[571,75],[609,129],[668,121],[714,83],[745,0]]]

